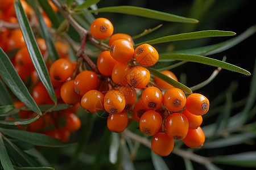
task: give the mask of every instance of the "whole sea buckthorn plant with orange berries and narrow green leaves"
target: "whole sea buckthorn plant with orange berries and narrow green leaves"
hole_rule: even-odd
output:
[[[191,18],[101,3],[1,0],[0,169],[255,168],[255,150],[221,149],[256,137],[255,76],[249,96],[233,101],[234,83],[223,94],[225,84],[211,82],[221,69],[229,70],[225,76],[250,72],[229,56],[209,56],[253,35],[255,26],[233,38],[225,37],[232,31],[196,31],[212,5],[203,1],[193,1]],[[130,15],[138,18],[121,19]],[[211,37],[228,40],[196,46]],[[217,69],[197,82],[209,73],[198,63]]]

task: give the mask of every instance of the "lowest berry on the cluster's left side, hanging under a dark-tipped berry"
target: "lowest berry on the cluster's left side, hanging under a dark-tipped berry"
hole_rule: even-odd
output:
[[[128,124],[128,117],[125,111],[116,114],[109,114],[107,126],[109,130],[121,133]]]

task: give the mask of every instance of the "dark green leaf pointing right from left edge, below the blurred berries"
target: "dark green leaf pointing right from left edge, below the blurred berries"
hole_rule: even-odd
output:
[[[49,137],[48,135],[32,133],[29,131],[4,129],[0,128],[1,133],[8,135],[14,139],[19,139],[32,145],[47,146],[47,147],[64,147],[70,144],[61,142],[59,139]]]

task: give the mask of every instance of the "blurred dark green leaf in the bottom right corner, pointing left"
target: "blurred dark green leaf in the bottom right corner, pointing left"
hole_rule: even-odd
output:
[[[214,163],[227,164],[238,167],[256,168],[256,151],[240,154],[216,156],[211,159]]]

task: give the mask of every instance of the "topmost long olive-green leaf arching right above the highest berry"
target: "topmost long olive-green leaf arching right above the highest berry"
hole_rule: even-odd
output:
[[[89,10],[86,12],[115,12],[121,14],[137,15],[145,18],[152,18],[158,20],[164,20],[167,22],[180,22],[180,23],[198,23],[199,21],[192,18],[185,18],[174,14],[168,14],[166,12],[150,10],[143,7],[135,6],[112,6],[102,7],[97,10]]]

